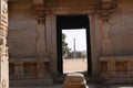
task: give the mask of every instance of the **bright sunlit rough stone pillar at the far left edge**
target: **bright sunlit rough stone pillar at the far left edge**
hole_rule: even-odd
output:
[[[9,88],[8,0],[0,0],[0,88]]]

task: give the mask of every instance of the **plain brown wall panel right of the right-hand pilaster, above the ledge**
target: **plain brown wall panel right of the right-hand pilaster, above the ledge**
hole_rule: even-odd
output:
[[[111,40],[114,55],[133,55],[133,1],[121,0],[111,18]]]

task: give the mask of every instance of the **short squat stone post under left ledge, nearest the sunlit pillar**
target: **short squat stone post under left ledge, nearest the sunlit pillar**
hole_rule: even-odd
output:
[[[16,62],[14,63],[14,76],[22,77],[23,75],[24,75],[23,63],[22,62]]]

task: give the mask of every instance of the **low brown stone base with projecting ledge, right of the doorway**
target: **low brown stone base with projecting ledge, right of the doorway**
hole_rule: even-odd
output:
[[[133,56],[106,56],[100,63],[101,77],[110,84],[133,82]]]

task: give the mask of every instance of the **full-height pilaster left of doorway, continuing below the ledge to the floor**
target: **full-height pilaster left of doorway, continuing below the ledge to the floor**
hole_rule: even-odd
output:
[[[38,78],[43,78],[47,84],[52,84],[52,77],[50,76],[50,58],[48,56],[48,46],[47,46],[47,26],[45,26],[45,16],[48,10],[44,0],[33,0],[33,15],[38,21],[37,24],[37,67],[38,67]]]

